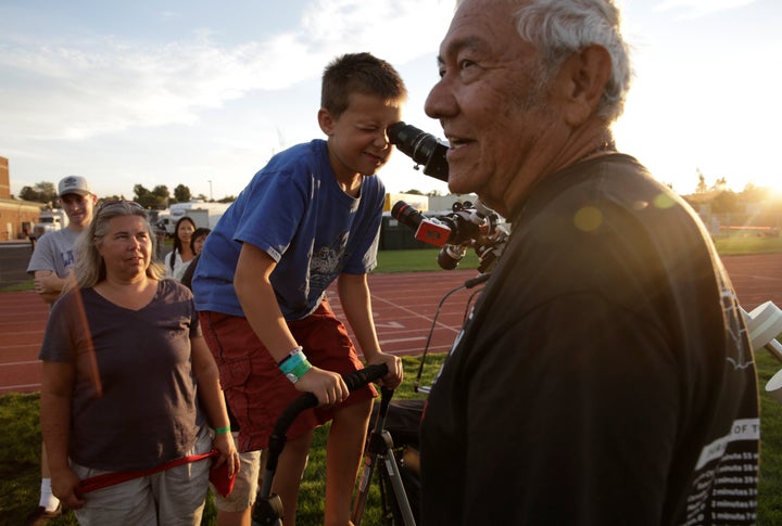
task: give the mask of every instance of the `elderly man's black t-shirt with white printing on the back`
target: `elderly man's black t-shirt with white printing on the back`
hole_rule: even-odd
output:
[[[754,357],[692,209],[617,154],[513,228],[428,398],[424,524],[754,524]]]

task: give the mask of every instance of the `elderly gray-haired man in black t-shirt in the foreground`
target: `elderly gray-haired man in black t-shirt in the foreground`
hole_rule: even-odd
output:
[[[753,524],[756,370],[696,214],[610,124],[609,0],[464,0],[426,102],[449,185],[513,234],[432,387],[422,518]]]

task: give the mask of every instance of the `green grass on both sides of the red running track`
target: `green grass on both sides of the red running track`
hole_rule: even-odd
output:
[[[779,238],[732,236],[716,240],[720,254],[757,254],[782,252]],[[407,272],[438,270],[437,249],[393,251],[379,254],[376,272]],[[477,268],[478,258],[469,254],[459,268]],[[8,290],[29,290],[31,282],[24,282]],[[443,355],[430,355],[424,369],[422,385],[431,383],[442,363]],[[762,386],[782,367],[768,352],[757,356],[759,385]],[[406,381],[395,393],[398,399],[417,398],[413,381],[417,374],[419,358],[405,357]],[[782,406],[761,392],[762,456],[760,488],[758,496],[758,524],[782,524]],[[0,396],[0,524],[24,524],[25,517],[38,503],[40,484],[40,429],[38,423],[39,395]],[[302,482],[299,524],[317,525],[323,522],[325,426],[317,431],[310,464]],[[380,524],[377,485],[369,498],[364,524]],[[76,525],[71,512],[49,522],[52,526]],[[202,524],[215,524],[215,512],[207,501]]]

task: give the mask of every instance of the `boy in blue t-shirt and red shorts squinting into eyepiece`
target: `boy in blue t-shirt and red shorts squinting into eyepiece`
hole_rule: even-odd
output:
[[[387,128],[400,120],[406,94],[396,70],[369,53],[331,62],[317,115],[327,139],[274,156],[220,218],[195,269],[195,306],[240,425],[239,450],[265,449],[301,393],[318,398],[290,427],[275,474],[286,524],[295,523],[314,429],[329,420],[325,524],[349,524],[376,396],[371,386],[351,394],[342,381],[363,364],[329,308],[331,282],[365,361],[388,365],[383,385],[402,381],[401,360],[380,350],[366,274],[376,266],[386,197],[371,176],[391,154]],[[257,463],[255,456],[253,470],[240,474],[248,484],[231,496],[237,521],[250,514]]]

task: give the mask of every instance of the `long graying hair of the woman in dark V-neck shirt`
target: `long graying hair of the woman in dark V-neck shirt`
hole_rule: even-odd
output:
[[[76,242],[76,262],[74,264],[74,275],[76,286],[79,288],[94,286],[105,280],[105,262],[98,252],[98,246],[103,242],[103,236],[109,233],[111,219],[121,216],[138,216],[143,218],[147,226],[147,233],[152,242],[150,257],[155,253],[155,236],[147,217],[147,210],[131,201],[112,201],[103,203],[96,208],[89,228],[85,230]],[[147,275],[154,280],[162,280],[165,275],[163,265],[157,261],[150,261],[147,267]]]

